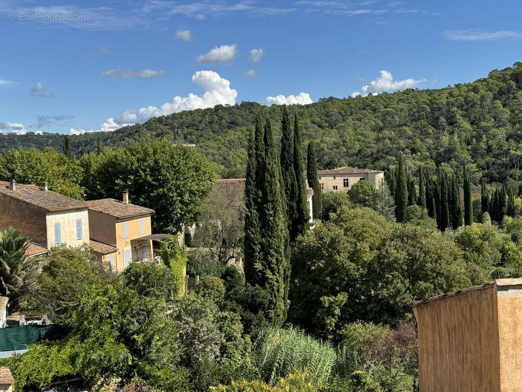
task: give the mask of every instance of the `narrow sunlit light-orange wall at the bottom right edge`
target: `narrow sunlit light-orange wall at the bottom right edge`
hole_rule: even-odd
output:
[[[498,287],[501,392],[522,391],[522,286]]]

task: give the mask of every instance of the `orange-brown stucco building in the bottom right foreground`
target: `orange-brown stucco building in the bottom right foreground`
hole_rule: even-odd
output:
[[[412,304],[420,392],[522,391],[522,279]]]

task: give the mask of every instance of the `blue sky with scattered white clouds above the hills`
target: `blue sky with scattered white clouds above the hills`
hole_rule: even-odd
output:
[[[519,2],[455,3],[0,0],[0,130],[439,88],[522,61]]]

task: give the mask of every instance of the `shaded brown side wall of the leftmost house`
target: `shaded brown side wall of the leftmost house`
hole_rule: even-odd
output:
[[[18,229],[35,243],[47,246],[45,211],[0,194],[0,230],[7,226]]]

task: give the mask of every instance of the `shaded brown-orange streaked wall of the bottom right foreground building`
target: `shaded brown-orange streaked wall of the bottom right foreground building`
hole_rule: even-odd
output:
[[[501,391],[494,286],[420,304],[413,312],[420,392]]]

